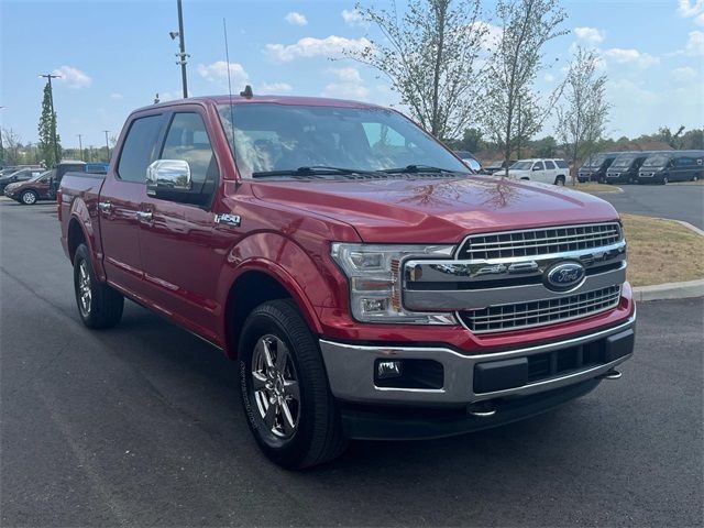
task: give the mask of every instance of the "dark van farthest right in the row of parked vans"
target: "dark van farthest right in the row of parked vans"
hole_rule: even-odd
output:
[[[638,172],[638,183],[696,182],[704,178],[704,151],[653,152]]]

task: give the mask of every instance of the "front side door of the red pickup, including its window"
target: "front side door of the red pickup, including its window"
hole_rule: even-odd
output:
[[[232,234],[217,229],[212,201],[220,169],[199,112],[172,114],[157,156],[188,162],[193,195],[179,202],[145,196],[140,246],[145,286],[157,308],[217,342],[223,307],[216,290]]]

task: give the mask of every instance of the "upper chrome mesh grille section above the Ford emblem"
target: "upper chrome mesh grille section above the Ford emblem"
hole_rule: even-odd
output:
[[[608,246],[622,238],[616,222],[475,234],[465,239],[458,257],[477,261],[540,256]]]

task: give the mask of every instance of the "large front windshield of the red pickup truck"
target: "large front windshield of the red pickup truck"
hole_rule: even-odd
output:
[[[384,170],[409,165],[469,173],[410,120],[382,108],[220,105],[240,174],[343,167]],[[232,127],[231,122],[234,123]]]

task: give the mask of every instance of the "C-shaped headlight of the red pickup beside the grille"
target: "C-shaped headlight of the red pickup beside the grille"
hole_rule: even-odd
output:
[[[453,245],[333,243],[330,254],[350,282],[352,316],[361,322],[457,324],[452,314],[406,311],[402,306],[402,261],[450,257]]]

